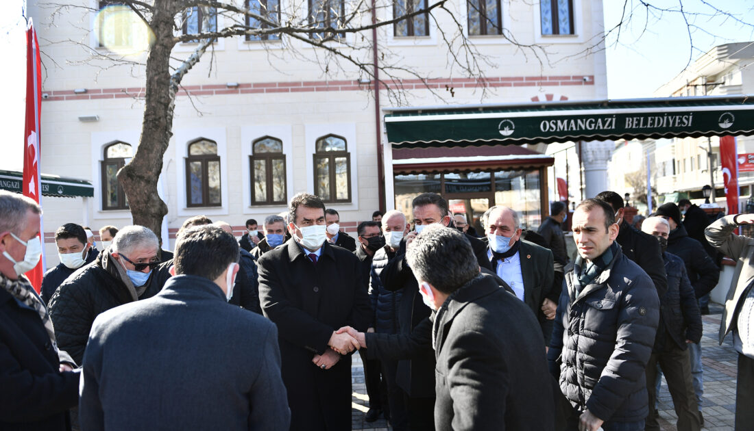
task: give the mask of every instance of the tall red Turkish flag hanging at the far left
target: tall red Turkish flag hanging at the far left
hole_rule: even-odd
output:
[[[41,114],[41,61],[39,44],[31,20],[26,30],[26,128],[24,129],[23,151],[23,196],[28,196],[39,203],[41,196],[41,169],[39,153],[39,119]],[[39,293],[44,275],[44,230],[39,218],[39,235],[42,244],[42,258],[26,277],[32,282],[34,290]]]

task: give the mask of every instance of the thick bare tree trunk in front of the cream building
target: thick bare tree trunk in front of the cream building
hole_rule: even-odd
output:
[[[162,157],[173,135],[176,89],[170,85],[170,52],[173,50],[173,0],[155,2],[150,25],[155,42],[146,61],[146,102],[139,147],[131,162],[118,171],[133,217],[161,238],[167,205],[157,193]]]

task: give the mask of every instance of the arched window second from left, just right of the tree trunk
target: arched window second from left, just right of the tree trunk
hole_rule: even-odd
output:
[[[220,157],[217,143],[199,138],[189,142],[186,157],[186,205],[215,207],[222,205],[220,193]]]

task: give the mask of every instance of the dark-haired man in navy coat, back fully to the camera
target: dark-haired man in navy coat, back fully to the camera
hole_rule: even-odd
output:
[[[94,321],[81,429],[286,429],[277,329],[228,304],[235,238],[217,226],[186,229],[173,263],[157,296]]]

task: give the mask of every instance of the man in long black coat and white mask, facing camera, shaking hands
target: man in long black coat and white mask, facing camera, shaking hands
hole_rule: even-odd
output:
[[[326,241],[325,206],[317,196],[294,196],[288,220],[292,238],[257,264],[262,310],[279,331],[290,428],[351,429],[348,353],[359,344],[335,331],[346,325],[363,331],[369,325],[361,263]]]

